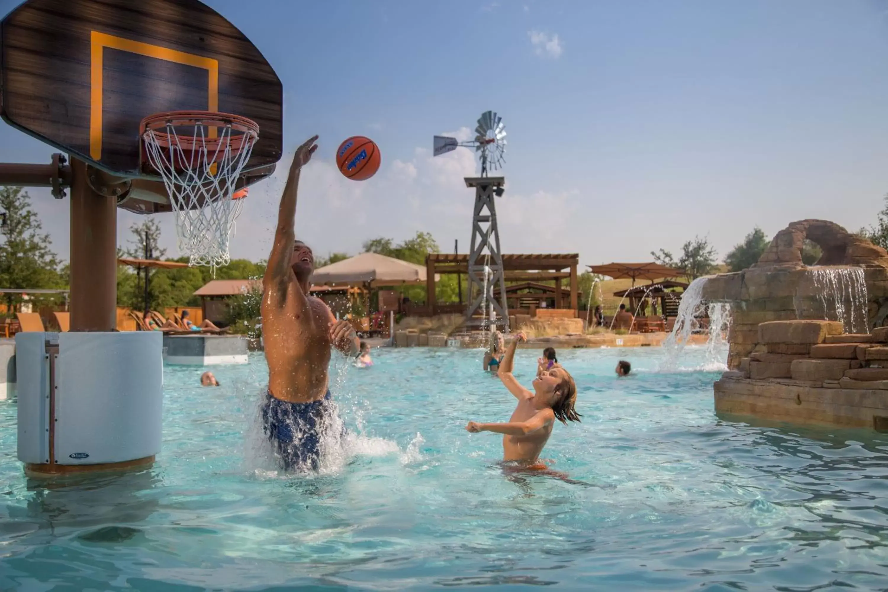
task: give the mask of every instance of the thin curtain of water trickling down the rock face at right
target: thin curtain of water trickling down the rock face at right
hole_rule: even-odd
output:
[[[867,283],[860,267],[808,270],[823,305],[823,318],[838,320],[846,333],[868,333]]]

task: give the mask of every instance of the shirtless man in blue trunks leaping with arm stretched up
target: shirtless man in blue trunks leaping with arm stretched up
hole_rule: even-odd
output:
[[[321,430],[330,413],[325,405],[330,399],[330,348],[354,356],[359,343],[348,321],[337,321],[327,304],[309,296],[314,256],[308,245],[296,240],[293,229],[299,173],[317,149],[317,138],[293,155],[263,279],[268,391],[262,422],[284,469],[317,469]]]

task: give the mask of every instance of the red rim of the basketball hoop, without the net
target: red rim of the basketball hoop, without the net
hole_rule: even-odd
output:
[[[187,134],[170,134],[166,130],[170,127],[198,127],[205,126],[210,128],[207,137],[198,138],[195,135]],[[218,138],[218,128],[231,128],[241,133],[239,136],[227,135]],[[215,149],[222,141],[226,141],[231,145],[234,154],[240,152],[244,147],[247,139],[255,141],[259,136],[259,125],[253,120],[235,115],[231,113],[221,113],[218,111],[164,111],[163,113],[155,113],[148,115],[139,122],[139,136],[147,141],[147,133],[152,132],[151,141],[158,146],[169,147],[173,144],[172,138],[177,138],[177,143],[184,148],[191,148],[198,142],[208,149]]]

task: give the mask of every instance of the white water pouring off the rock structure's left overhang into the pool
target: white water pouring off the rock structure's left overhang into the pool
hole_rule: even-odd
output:
[[[660,363],[661,372],[675,372],[679,367],[681,354],[692,334],[700,332],[700,318],[709,317],[709,338],[706,342],[706,362],[702,370],[726,370],[726,335],[731,325],[731,308],[729,304],[703,302],[703,286],[709,278],[697,278],[687,287],[678,304],[678,317],[672,332],[666,336],[662,344],[663,359]]]

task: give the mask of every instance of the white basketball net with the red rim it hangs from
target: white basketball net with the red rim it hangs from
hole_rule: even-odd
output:
[[[217,130],[218,138],[208,137],[210,129]],[[234,186],[258,134],[232,135],[230,124],[210,128],[202,122],[168,121],[163,129],[145,130],[142,138],[148,162],[170,193],[179,252],[189,265],[210,265],[215,277],[216,267],[231,261],[228,241],[243,208],[243,199],[232,199]]]

